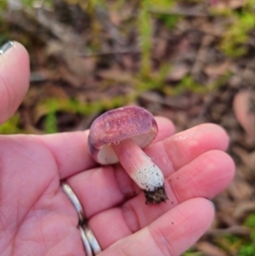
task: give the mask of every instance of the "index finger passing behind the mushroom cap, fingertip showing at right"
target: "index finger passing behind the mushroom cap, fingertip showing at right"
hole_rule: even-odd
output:
[[[174,133],[173,122],[164,117],[156,117],[159,133],[156,141]],[[77,174],[98,164],[88,151],[88,130],[85,132],[48,134],[37,136],[52,151],[59,166],[60,179]]]

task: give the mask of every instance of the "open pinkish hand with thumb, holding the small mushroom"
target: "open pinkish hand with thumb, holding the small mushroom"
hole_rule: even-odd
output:
[[[19,43],[0,55],[0,122],[28,89],[29,58]],[[175,134],[156,117],[159,134],[144,151],[161,168],[169,200],[145,205],[119,164],[102,167],[88,153],[88,131],[0,136],[0,254],[85,255],[77,213],[59,187],[66,179],[82,203],[100,256],[180,255],[212,224],[212,199],[235,166],[224,129],[201,124]]]

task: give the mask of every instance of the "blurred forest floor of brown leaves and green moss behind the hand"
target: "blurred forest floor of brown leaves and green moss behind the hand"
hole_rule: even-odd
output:
[[[255,255],[255,0],[0,0],[8,40],[31,56],[31,87],[1,134],[84,130],[122,105],[177,131],[223,126],[235,179],[184,255]]]

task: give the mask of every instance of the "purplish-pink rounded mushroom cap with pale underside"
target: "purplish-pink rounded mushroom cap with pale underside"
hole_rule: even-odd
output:
[[[88,148],[96,162],[112,164],[119,160],[111,144],[133,139],[144,148],[155,139],[157,132],[156,120],[149,111],[129,105],[107,111],[94,120],[88,135]]]

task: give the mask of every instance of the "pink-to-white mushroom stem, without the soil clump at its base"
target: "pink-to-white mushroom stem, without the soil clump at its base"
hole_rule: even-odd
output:
[[[150,157],[139,148],[133,139],[124,139],[121,143],[111,146],[122,163],[122,167],[142,190],[153,192],[164,187],[161,169],[150,160]]]

